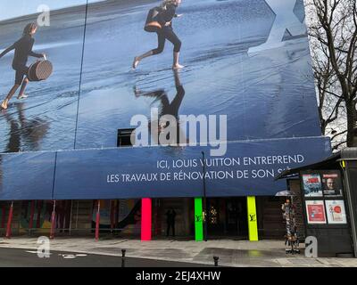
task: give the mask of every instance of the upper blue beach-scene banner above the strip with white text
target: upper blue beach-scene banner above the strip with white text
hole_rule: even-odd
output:
[[[303,0],[183,0],[180,17],[146,32],[148,12],[162,4],[5,1],[0,53],[28,49],[29,37],[34,45],[0,58],[0,102],[43,60],[34,53],[54,72],[4,104],[0,152],[116,147],[118,129],[137,127],[130,119],[153,107],[161,116],[227,115],[228,141],[320,135]],[[173,52],[185,66],[175,72]]]

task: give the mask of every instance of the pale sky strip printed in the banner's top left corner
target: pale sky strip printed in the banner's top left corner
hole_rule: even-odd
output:
[[[103,0],[89,0],[89,3]],[[37,7],[46,4],[51,10],[61,9],[79,4],[86,0],[0,0],[0,20],[7,20],[37,12]]]

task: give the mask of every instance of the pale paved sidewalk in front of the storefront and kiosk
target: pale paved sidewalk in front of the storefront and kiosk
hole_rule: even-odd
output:
[[[303,245],[302,245],[303,246]],[[0,239],[1,248],[37,249],[37,239],[15,237]],[[307,258],[303,255],[286,255],[282,240],[140,240],[92,238],[64,238],[51,240],[51,250],[77,253],[126,256],[157,260],[180,261],[213,265],[213,256],[220,257],[225,266],[268,266],[268,267],[357,267],[357,258]],[[110,266],[110,265],[108,265]]]

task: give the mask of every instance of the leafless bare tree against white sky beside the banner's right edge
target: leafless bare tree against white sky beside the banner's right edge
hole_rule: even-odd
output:
[[[357,0],[305,0],[322,134],[357,146]]]

